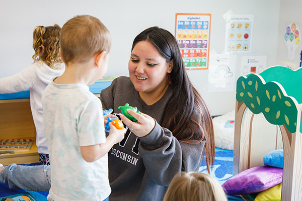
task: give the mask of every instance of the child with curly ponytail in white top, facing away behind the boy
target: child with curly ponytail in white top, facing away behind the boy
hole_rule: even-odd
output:
[[[65,70],[59,56],[60,32],[61,28],[56,24],[49,27],[37,26],[33,32],[34,63],[15,75],[0,79],[0,93],[30,90],[30,107],[36,127],[36,145],[41,165],[49,165],[41,96],[51,79]]]

